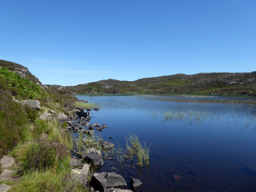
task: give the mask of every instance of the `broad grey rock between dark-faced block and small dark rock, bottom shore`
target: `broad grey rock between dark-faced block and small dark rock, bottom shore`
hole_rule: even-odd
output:
[[[127,186],[124,178],[114,172],[107,172],[107,188],[115,187],[115,188],[125,188]]]

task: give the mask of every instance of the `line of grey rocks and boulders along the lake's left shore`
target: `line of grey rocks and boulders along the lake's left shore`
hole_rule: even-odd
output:
[[[84,102],[84,101],[81,101]],[[103,129],[108,126],[105,124],[94,123],[91,124],[91,110],[100,110],[100,108],[82,108],[76,107],[69,111],[72,115],[67,116],[64,113],[55,115],[53,112],[44,113],[40,116],[40,119],[51,119],[57,118],[61,124],[65,124],[67,131],[72,131],[73,133],[82,133],[88,136],[93,136],[97,131],[99,135]],[[50,111],[50,110],[49,110]],[[83,140],[86,143],[86,140]],[[91,139],[90,142],[96,143],[95,139]],[[114,148],[114,144],[109,141],[100,140],[100,145],[103,150],[110,150]],[[71,151],[72,158],[70,159],[70,167],[72,177],[79,180],[79,182],[86,186],[92,186],[91,191],[99,192],[132,192],[140,188],[142,185],[141,181],[135,178],[131,178],[131,189],[125,189],[127,183],[124,178],[115,172],[95,172],[92,174],[92,178],[88,181],[88,174],[91,170],[100,170],[104,166],[104,160],[114,159],[113,156],[102,156],[99,150],[91,147],[87,150],[83,150],[81,153],[75,148]],[[87,163],[84,163],[87,162]],[[89,162],[89,163],[88,163]]]

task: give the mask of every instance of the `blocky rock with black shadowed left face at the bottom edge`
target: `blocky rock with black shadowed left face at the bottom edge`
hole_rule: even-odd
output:
[[[107,191],[107,179],[106,179],[106,172],[102,173],[94,173],[92,175],[92,187],[95,190],[98,190],[100,192],[106,192]]]

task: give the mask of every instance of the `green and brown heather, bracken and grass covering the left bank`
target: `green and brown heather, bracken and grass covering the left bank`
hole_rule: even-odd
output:
[[[41,110],[21,106],[27,99],[39,100]],[[70,90],[52,90],[28,68],[0,60],[0,158],[8,154],[16,162],[11,167],[15,177],[0,184],[11,185],[9,191],[87,190],[70,175],[73,141],[63,129],[66,125],[39,119],[50,109],[68,114],[76,102]]]

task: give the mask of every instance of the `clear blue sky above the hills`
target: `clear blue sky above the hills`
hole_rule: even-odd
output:
[[[43,84],[256,70],[255,0],[1,1],[0,59]]]

